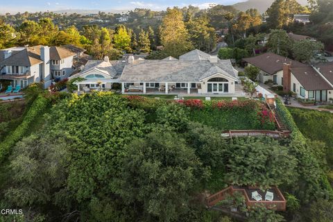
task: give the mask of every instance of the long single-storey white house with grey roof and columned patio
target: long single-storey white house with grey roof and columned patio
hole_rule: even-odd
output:
[[[230,60],[219,60],[195,49],[179,60],[135,60],[133,56],[123,61],[89,60],[80,73],[70,78],[84,79],[74,82],[79,91],[110,89],[113,83],[120,83],[123,94],[234,94],[237,74]]]

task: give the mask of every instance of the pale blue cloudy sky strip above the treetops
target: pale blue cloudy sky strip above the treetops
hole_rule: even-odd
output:
[[[133,8],[151,8],[162,10],[169,6],[198,6],[208,8],[210,3],[229,5],[246,0],[0,0],[1,12],[26,11],[35,12],[40,10],[64,10],[64,9],[100,9],[119,10]]]

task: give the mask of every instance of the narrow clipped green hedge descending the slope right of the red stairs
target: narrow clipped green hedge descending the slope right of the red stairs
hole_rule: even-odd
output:
[[[289,130],[291,130],[291,138],[293,140],[298,140],[299,142],[305,143],[305,137],[302,135],[302,133],[300,133],[300,130],[298,129],[295,121],[293,121],[291,113],[286,108],[286,106],[283,105],[280,99],[276,99],[276,111],[278,112],[278,115],[280,116],[284,125],[287,126]]]

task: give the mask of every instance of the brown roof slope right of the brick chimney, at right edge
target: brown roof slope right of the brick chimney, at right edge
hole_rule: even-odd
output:
[[[292,67],[291,73],[307,91],[333,89],[313,67]]]

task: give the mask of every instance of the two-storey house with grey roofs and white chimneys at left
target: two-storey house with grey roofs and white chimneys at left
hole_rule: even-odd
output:
[[[68,78],[77,67],[74,59],[83,49],[72,46],[12,47],[0,50],[0,80],[22,88],[31,83],[44,83]]]

